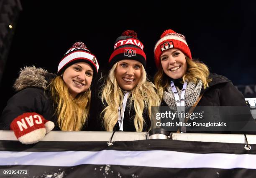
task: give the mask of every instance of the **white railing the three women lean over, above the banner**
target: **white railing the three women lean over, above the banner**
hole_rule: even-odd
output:
[[[51,131],[42,141],[110,141],[113,132],[98,131]],[[256,135],[246,135],[249,144],[256,144]],[[214,134],[214,133],[171,133],[172,140],[246,143],[243,134]],[[149,139],[147,132],[115,132],[112,141],[133,141]],[[17,140],[13,131],[0,130],[0,140]]]

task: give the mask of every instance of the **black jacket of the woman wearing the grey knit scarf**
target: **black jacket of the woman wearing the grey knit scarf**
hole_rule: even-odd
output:
[[[244,125],[249,125],[248,122],[250,122],[250,127],[243,128],[244,130],[250,130],[246,133],[256,133],[253,130],[256,130],[256,124],[251,116],[250,108],[246,104],[246,101],[242,95],[241,92],[238,91],[238,89],[232,84],[232,82],[226,78],[225,76],[218,75],[218,74],[210,74],[210,78],[212,78],[212,81],[209,83],[209,87],[206,89],[201,90],[200,94],[203,94],[201,100],[197,104],[197,106],[243,106],[241,108],[241,112],[243,113],[241,115],[237,115],[237,117],[234,118],[228,118],[225,117],[225,119],[228,118],[228,120],[223,120],[224,122],[230,122],[232,123],[233,120],[239,121],[241,124],[235,124],[234,127],[237,127],[237,132],[225,132],[225,128],[223,128],[223,132],[225,133],[244,133],[239,132],[241,128],[243,128]],[[176,86],[179,88],[182,88],[183,84],[179,84],[177,81],[175,83]],[[168,106],[164,100],[162,100],[161,106]],[[195,109],[196,110],[196,109]],[[224,111],[225,112],[225,111]],[[239,113],[239,112],[238,112]],[[219,116],[220,118],[223,116]],[[208,120],[202,120],[202,123],[207,122],[214,122],[214,118],[207,118]],[[221,120],[221,119],[220,119]],[[177,120],[177,122],[179,122]],[[189,120],[188,123],[192,123],[192,120]],[[177,130],[179,127],[174,127],[173,131]],[[233,128],[233,130],[236,130]],[[191,129],[193,132],[193,128]],[[218,132],[216,132],[218,133]]]

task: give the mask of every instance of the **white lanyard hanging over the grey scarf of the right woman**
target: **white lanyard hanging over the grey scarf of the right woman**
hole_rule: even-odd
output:
[[[173,81],[171,81],[171,88],[172,88],[172,92],[173,92],[175,100],[176,100],[178,113],[184,113],[185,112],[185,90],[187,88],[187,81],[185,81],[183,84],[182,93],[180,94],[180,98],[179,98],[178,92],[176,90],[176,87],[175,87]],[[179,118],[179,122],[185,123],[185,118],[184,117]],[[180,128],[181,128],[182,133],[186,132],[186,127],[182,126]]]

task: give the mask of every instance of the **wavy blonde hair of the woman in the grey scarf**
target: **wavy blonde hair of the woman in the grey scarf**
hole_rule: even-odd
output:
[[[187,55],[185,55],[187,62],[187,71],[184,73],[182,80],[183,82],[187,80],[188,82],[198,83],[199,80],[202,80],[204,89],[209,87],[209,82],[212,81],[209,78],[210,71],[204,63],[199,60],[189,59]],[[169,76],[164,73],[162,67],[159,67],[159,70],[156,72],[154,76],[154,83],[156,85],[157,94],[159,98],[162,99],[164,90],[168,85],[170,85]]]

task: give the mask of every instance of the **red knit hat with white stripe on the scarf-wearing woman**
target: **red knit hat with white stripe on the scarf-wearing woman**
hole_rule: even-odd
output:
[[[187,45],[185,36],[174,32],[173,30],[165,30],[162,33],[160,40],[155,45],[154,55],[155,63],[157,68],[160,66],[160,56],[164,50],[169,50],[171,48],[176,48],[182,51],[185,55],[192,59],[190,49]]]

